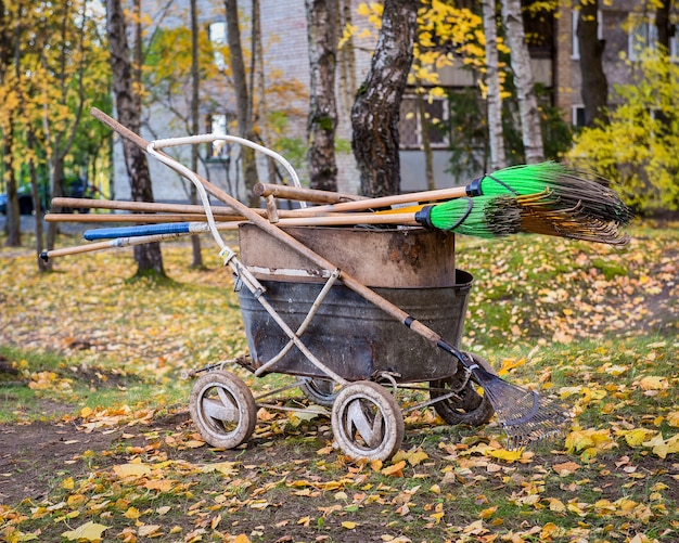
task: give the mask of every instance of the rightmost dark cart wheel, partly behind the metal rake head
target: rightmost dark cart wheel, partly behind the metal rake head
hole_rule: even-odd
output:
[[[487,372],[495,374],[495,370],[486,360],[476,354],[471,354],[472,360]],[[430,383],[430,397],[435,400],[448,393],[446,389],[454,389],[456,376]],[[450,425],[467,424],[481,426],[486,424],[495,413],[487,396],[482,396],[476,389],[476,384],[470,379],[466,386],[458,392],[460,400],[448,398],[434,404],[436,413]]]

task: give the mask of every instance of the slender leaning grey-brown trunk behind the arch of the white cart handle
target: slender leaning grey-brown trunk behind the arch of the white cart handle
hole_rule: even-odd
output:
[[[236,121],[241,138],[254,140],[253,112],[248,100],[247,76],[241,46],[241,29],[239,26],[238,0],[225,0],[227,10],[227,41],[231,56],[231,72],[233,74],[233,87],[235,89]],[[259,197],[253,194],[253,188],[257,184],[257,161],[255,151],[251,147],[241,150],[243,157],[243,178],[245,182],[246,199],[249,207],[259,206]]]

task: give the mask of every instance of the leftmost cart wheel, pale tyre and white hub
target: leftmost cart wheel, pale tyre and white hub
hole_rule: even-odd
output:
[[[257,423],[253,393],[229,372],[202,375],[191,391],[189,411],[203,439],[220,449],[233,449],[247,441]]]

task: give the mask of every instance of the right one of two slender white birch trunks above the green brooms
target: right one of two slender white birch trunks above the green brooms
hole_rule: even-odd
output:
[[[530,55],[526,44],[526,34],[521,11],[521,0],[501,0],[502,18],[511,50],[511,64],[516,85],[518,117],[526,163],[545,160],[540,112],[535,92]]]

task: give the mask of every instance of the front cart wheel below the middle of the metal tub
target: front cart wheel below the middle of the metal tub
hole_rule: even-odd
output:
[[[353,458],[388,460],[403,441],[403,415],[394,397],[376,383],[344,387],[332,410],[340,449]]]

